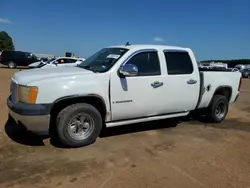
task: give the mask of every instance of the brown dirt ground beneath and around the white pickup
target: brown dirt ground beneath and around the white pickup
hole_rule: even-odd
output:
[[[7,122],[13,72],[0,69],[1,188],[250,188],[250,80],[219,125],[134,124],[66,149]]]

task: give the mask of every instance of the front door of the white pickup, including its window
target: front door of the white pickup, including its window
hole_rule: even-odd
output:
[[[112,73],[112,121],[163,114],[165,87],[158,52],[139,52],[126,64],[136,65],[138,75],[120,78],[116,72]]]

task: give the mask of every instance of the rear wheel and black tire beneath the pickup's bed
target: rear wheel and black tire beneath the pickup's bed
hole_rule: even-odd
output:
[[[227,116],[229,101],[223,95],[215,95],[207,108],[206,117],[208,122],[220,123]],[[220,110],[221,112],[220,112]]]

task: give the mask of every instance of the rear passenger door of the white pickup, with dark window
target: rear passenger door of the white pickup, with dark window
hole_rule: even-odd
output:
[[[185,50],[165,50],[164,56],[167,67],[164,83],[167,85],[168,113],[195,109],[199,99],[200,77],[193,54]]]

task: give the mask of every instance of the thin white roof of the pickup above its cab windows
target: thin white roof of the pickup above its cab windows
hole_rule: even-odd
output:
[[[117,46],[110,46],[110,48],[126,48],[126,49],[133,49],[133,50],[140,50],[140,49],[157,49],[157,50],[189,50],[189,48],[179,47],[179,46],[167,46],[167,45],[150,45],[150,44],[131,44],[131,45],[117,45]]]

